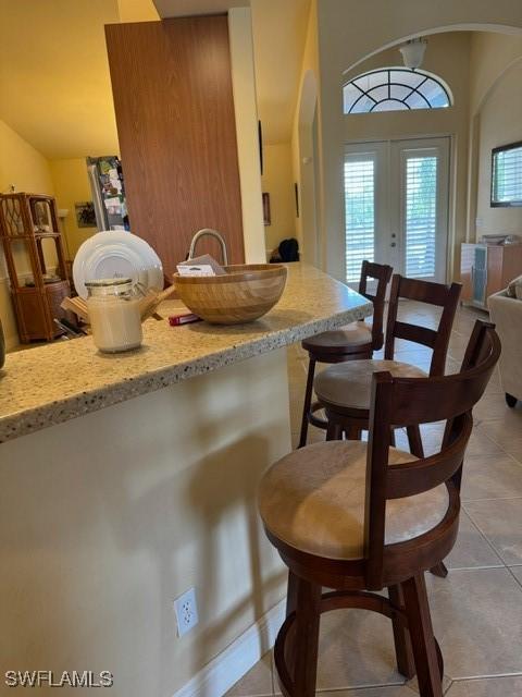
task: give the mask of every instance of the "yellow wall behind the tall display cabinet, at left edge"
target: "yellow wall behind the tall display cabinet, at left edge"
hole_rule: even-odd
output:
[[[53,194],[49,163],[32,145],[26,143],[4,121],[0,121],[0,192],[14,184],[18,192]],[[18,343],[16,321],[9,291],[8,272],[0,252],[0,319],[8,351]]]

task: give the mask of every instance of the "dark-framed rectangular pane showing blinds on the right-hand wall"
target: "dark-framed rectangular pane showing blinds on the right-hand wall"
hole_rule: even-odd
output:
[[[492,151],[492,206],[522,206],[522,143]]]

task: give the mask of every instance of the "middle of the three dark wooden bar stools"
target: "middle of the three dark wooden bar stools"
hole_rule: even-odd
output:
[[[394,359],[396,339],[406,339],[432,348],[430,376],[444,375],[460,290],[460,283],[444,285],[407,279],[398,273],[394,274],[389,295],[384,360],[363,359],[332,366],[318,375],[314,380],[313,388],[318,395],[318,403],[326,413],[327,440],[343,438],[344,433],[348,438],[357,440],[360,438],[361,430],[368,429],[371,382],[374,372],[388,370],[395,377],[426,377],[426,374],[417,366]],[[399,298],[442,307],[443,311],[437,329],[427,329],[399,321],[397,319]],[[423,448],[419,428],[409,425],[407,431],[410,451],[418,457],[422,457]]]

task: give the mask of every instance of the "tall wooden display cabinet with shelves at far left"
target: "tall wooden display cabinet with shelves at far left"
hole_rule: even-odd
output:
[[[71,319],[60,307],[71,288],[54,198],[26,193],[0,195],[0,237],[20,341],[55,339],[62,332],[53,319]],[[46,253],[55,265],[52,276],[48,273]]]

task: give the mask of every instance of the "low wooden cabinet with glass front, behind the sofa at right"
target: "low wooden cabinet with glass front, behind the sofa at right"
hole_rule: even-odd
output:
[[[462,244],[461,299],[487,309],[487,298],[522,274],[522,244]]]

